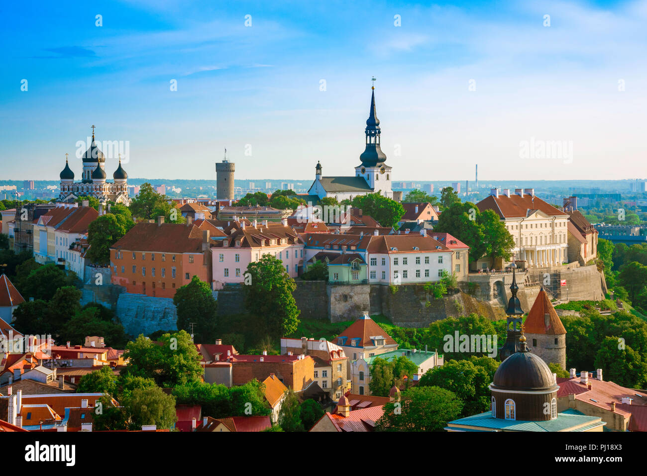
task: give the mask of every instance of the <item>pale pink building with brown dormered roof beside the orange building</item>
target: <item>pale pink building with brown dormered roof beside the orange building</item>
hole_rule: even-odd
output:
[[[214,289],[243,283],[247,266],[266,254],[283,261],[290,277],[297,277],[303,269],[303,241],[287,224],[232,221],[224,231],[227,237],[211,248]]]

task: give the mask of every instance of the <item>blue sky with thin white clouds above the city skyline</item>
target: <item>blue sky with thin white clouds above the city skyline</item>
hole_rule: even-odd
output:
[[[93,124],[129,177],[215,179],[225,148],[236,179],[353,175],[373,76],[395,181],[645,177],[646,24],[647,1],[4,2],[0,179],[65,153],[78,179]]]

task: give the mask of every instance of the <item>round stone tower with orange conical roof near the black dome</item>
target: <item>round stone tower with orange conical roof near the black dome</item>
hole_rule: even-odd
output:
[[[546,363],[557,363],[566,369],[566,329],[543,290],[537,295],[525,324],[525,336],[533,354]]]

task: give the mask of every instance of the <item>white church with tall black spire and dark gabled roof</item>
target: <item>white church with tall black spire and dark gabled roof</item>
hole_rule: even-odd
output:
[[[333,197],[338,201],[358,195],[367,195],[379,191],[384,197],[393,198],[391,189],[391,167],[384,164],[386,155],[380,149],[380,120],[375,112],[375,87],[371,94],[371,110],[366,121],[366,148],[360,155],[362,162],[355,167],[353,177],[323,177],[322,165],[318,162],[315,168],[315,179],[308,195]]]

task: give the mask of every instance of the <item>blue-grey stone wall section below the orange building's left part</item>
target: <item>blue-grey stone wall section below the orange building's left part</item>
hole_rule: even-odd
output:
[[[177,312],[170,297],[124,292],[117,300],[115,313],[124,325],[126,334],[131,336],[146,336],[156,330],[177,329]]]

